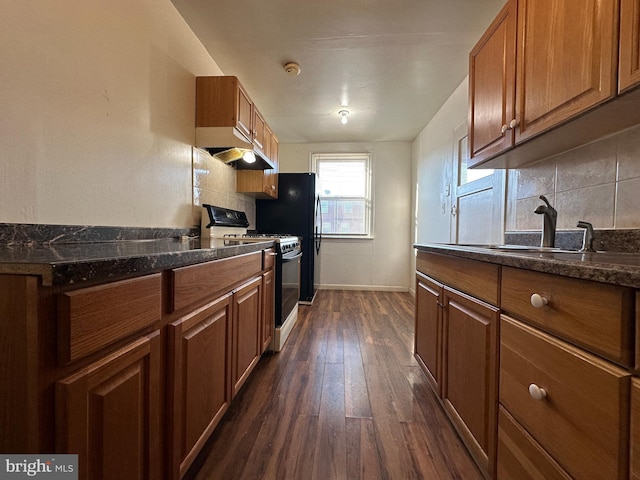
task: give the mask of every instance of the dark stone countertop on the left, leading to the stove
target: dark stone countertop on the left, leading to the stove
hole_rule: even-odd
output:
[[[39,275],[43,285],[112,281],[273,246],[266,242],[162,238],[0,246],[0,274]]]

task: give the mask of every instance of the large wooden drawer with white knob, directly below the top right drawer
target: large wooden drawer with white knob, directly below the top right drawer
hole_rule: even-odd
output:
[[[626,478],[629,388],[626,371],[502,315],[500,403],[575,478]]]

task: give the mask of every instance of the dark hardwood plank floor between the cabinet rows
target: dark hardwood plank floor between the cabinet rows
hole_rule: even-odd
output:
[[[320,290],[190,479],[481,479],[413,358],[408,293]]]

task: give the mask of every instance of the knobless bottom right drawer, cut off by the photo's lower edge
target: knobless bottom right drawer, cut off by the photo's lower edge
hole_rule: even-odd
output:
[[[571,480],[571,477],[502,407],[498,412],[500,480]]]

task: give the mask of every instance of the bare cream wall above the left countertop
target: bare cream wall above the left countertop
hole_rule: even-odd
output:
[[[11,0],[0,15],[0,222],[189,227],[196,75],[169,0]]]

